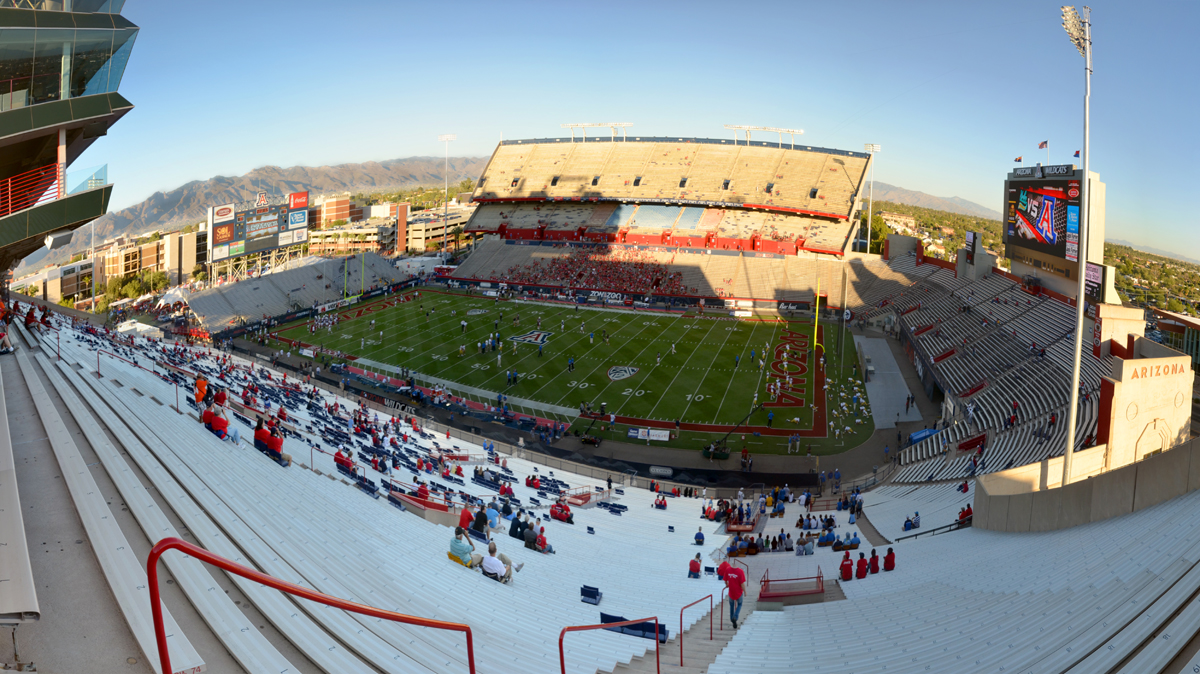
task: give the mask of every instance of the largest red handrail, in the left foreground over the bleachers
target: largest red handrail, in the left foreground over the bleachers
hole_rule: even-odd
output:
[[[242,578],[248,578],[256,583],[266,585],[268,588],[275,588],[283,592],[295,595],[308,601],[314,601],[317,603],[323,603],[325,606],[331,606],[334,608],[340,608],[342,610],[349,610],[350,613],[361,613],[362,615],[370,615],[371,618],[379,618],[383,620],[394,620],[396,622],[404,622],[407,625],[419,625],[421,627],[436,627],[438,630],[452,630],[455,632],[467,633],[467,664],[470,667],[470,674],[475,674],[475,643],[472,639],[470,626],[462,625],[460,622],[444,622],[442,620],[431,620],[428,618],[416,618],[415,615],[404,615],[403,613],[394,613],[391,610],[384,610],[382,608],[374,608],[371,606],[364,606],[360,603],[354,603],[346,600],[340,600],[337,597],[331,597],[329,595],[310,590],[308,588],[301,588],[284,580],[280,580],[272,576],[254,571],[253,568],[242,566],[240,564],[229,561],[228,559],[215,555],[209,550],[182,541],[180,538],[169,537],[163,538],[155,543],[154,548],[150,550],[150,558],[146,560],[146,579],[150,582],[150,608],[154,612],[154,633],[155,639],[158,643],[158,660],[161,661],[162,674],[170,674],[170,654],[167,652],[167,631],[162,624],[162,602],[158,601],[158,558],[163,555],[167,550],[178,549],[182,550],[188,556],[194,556],[196,559],[217,566],[228,573],[236,573]],[[655,624],[655,631],[658,625]],[[559,637],[559,648],[562,648],[562,637]]]

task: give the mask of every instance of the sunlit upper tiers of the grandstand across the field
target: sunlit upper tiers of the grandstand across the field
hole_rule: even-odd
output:
[[[468,233],[845,254],[870,156],[703,138],[505,140]]]

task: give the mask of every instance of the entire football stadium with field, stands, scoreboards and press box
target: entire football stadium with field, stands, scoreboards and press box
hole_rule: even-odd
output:
[[[114,60],[120,11],[0,22]],[[0,109],[0,258],[107,211],[101,70]],[[866,243],[870,149],[612,126],[499,142],[452,260],[310,254],[277,185],[208,206],[170,330],[5,288],[4,668],[1200,672],[1194,360],[1086,158],[942,259]]]

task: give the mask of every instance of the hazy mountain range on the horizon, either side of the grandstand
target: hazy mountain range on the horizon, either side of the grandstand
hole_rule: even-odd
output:
[[[450,182],[475,180],[487,166],[487,157],[451,157]],[[202,222],[206,209],[215,204],[248,201],[258,192],[286,194],[307,191],[319,194],[371,193],[406,189],[418,186],[443,183],[442,157],[407,157],[384,162],[338,164],[324,167],[262,167],[241,176],[218,175],[209,180],[193,180],[166,192],[155,192],[142,203],[113,211],[96,219],[96,241],[121,235],[138,235],[154,230],[173,230],[186,224]],[[908,204],[926,209],[950,211],[976,217],[1000,219],[998,211],[980,206],[960,197],[934,197],[924,192],[895,187],[886,182],[875,183],[875,198],[881,201]],[[47,264],[61,264],[74,253],[88,249],[90,230],[80,230],[71,245],[49,252],[42,248],[25,258],[17,269],[17,276],[41,269]]]

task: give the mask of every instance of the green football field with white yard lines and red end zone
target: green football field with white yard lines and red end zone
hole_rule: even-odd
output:
[[[821,327],[823,342],[829,343],[824,375],[836,392],[842,386],[838,383],[853,374],[853,338],[846,335],[847,367],[839,367],[838,339],[832,338],[839,327]],[[480,353],[479,342],[497,331],[502,349]],[[410,368],[419,381],[445,383],[456,395],[478,402],[496,404],[497,395],[504,395],[510,407],[526,414],[570,422],[580,403],[587,402],[594,409],[607,403],[608,413],[624,417],[679,420],[685,431],[670,443],[676,446],[700,449],[724,435],[724,428],[686,425],[736,425],[751,410],[756,393],[768,407],[755,411],[748,423],[766,427],[768,413],[774,411],[772,426],[785,433],[769,443],[763,438],[762,444],[770,446],[760,450],[774,451],[786,445],[787,434],[800,432],[815,451],[828,453],[856,446],[874,431],[866,415],[866,423],[848,421],[853,428],[848,434],[827,438],[824,396],[817,396],[814,408],[816,368],[809,367],[805,353],[812,338],[811,320],[635,313],[424,291],[407,302],[385,297],[349,307],[332,331],[310,333],[307,321],[298,321],[275,333],[356,356],[359,366]],[[758,359],[768,345],[770,356],[760,369]],[[785,350],[787,362],[782,362]],[[569,359],[574,359],[574,371]],[[508,374],[514,369],[517,380],[510,385]],[[782,377],[792,375],[792,387],[774,402],[766,389],[772,373],[785,389]],[[814,428],[814,414],[822,422],[820,428]],[[578,423],[586,427],[590,420]]]

